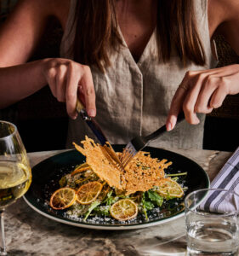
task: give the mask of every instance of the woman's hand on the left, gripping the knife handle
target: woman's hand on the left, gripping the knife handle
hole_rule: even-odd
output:
[[[89,116],[96,115],[94,84],[88,66],[68,59],[46,59],[43,76],[57,100],[66,102],[71,119],[77,118],[77,97],[85,105]]]

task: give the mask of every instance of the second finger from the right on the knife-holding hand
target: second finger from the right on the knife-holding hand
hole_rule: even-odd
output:
[[[66,110],[71,119],[77,118],[77,87],[80,79],[80,73],[76,67],[70,63],[67,71],[67,81],[65,89]]]

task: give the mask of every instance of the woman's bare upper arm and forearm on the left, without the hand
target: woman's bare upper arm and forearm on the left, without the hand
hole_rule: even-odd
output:
[[[31,56],[48,15],[41,1],[24,0],[3,23],[0,30],[0,108],[31,95],[46,84],[40,77],[40,61],[17,65]],[[33,77],[36,77],[34,83]]]

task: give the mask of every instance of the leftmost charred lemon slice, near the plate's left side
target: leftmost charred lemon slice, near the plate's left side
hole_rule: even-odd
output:
[[[77,199],[77,193],[74,189],[61,188],[54,191],[50,198],[50,207],[55,210],[63,210],[71,207]]]

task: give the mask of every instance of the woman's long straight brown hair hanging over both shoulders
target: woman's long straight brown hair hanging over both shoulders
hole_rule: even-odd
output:
[[[109,49],[117,50],[122,39],[117,30],[117,0],[78,0],[73,44],[74,60],[104,72],[111,65]],[[199,38],[193,0],[158,0],[156,38],[159,60],[170,61],[172,49],[185,64],[203,66],[205,52]]]

